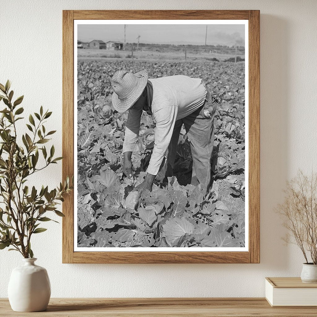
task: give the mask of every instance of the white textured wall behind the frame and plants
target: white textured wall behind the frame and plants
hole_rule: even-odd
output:
[[[261,10],[261,263],[260,264],[62,264],[61,226],[36,236],[37,264],[47,268],[52,297],[257,297],[265,276],[299,276],[303,257],[285,246],[274,208],[286,179],[299,168],[316,169],[316,2],[287,0],[176,1],[25,1],[2,0],[0,82],[12,81],[24,94],[25,113],[53,110],[47,128],[61,153],[63,9],[254,9]],[[54,166],[55,167],[55,166]],[[61,164],[42,182],[58,184]],[[0,297],[15,252],[0,251]]]

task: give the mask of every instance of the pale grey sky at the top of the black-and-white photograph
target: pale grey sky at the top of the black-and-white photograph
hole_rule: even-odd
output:
[[[127,24],[126,42],[153,44],[192,44],[204,45],[206,35],[205,24]],[[80,24],[78,25],[78,40],[124,42],[123,24]],[[244,25],[239,24],[210,24],[207,27],[207,45],[242,45],[244,46]]]

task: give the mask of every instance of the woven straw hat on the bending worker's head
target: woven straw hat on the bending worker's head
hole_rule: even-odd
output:
[[[146,69],[135,74],[126,70],[115,72],[111,79],[113,108],[118,112],[130,109],[141,96],[147,79]]]

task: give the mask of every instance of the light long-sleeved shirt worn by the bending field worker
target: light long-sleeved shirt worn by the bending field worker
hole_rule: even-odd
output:
[[[204,104],[207,91],[200,78],[184,75],[148,79],[153,86],[151,111],[156,124],[154,148],[147,172],[157,175],[165,157],[176,120],[185,118]],[[129,109],[123,142],[124,152],[139,150],[142,109]]]

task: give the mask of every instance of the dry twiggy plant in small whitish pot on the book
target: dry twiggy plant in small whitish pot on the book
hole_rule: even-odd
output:
[[[284,190],[286,196],[277,211],[283,226],[290,230],[282,239],[297,244],[305,263],[301,272],[304,283],[317,283],[317,174],[305,176],[301,171]]]

